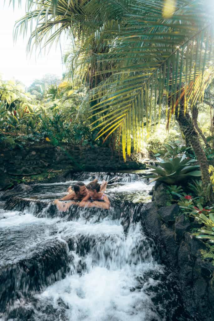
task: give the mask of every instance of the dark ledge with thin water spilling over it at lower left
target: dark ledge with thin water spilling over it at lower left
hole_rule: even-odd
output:
[[[41,242],[35,253],[0,269],[0,311],[22,295],[41,291],[65,277],[69,256],[64,242],[51,239]]]

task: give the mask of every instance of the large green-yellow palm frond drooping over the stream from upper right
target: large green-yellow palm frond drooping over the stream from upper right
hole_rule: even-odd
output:
[[[138,1],[138,14],[128,17],[120,33],[114,30],[114,47],[107,53],[99,53],[97,63],[113,61],[115,65],[97,71],[95,76],[107,73],[110,76],[93,89],[92,101],[96,103],[91,110],[100,115],[98,121],[103,113],[128,109],[124,116],[126,126],[123,125],[126,139],[122,140],[127,144],[127,153],[130,149],[127,135],[132,136],[134,149],[139,150],[142,124],[146,121],[149,130],[151,120],[160,119],[163,98],[170,100],[168,104],[167,98],[166,104],[170,122],[176,107],[179,112],[181,103],[186,110],[189,104],[192,106],[202,99],[201,93],[214,75],[214,25],[202,3],[193,1],[184,5],[180,2],[181,7],[168,20],[161,16],[161,5],[155,3],[152,7],[150,4],[150,9],[147,7],[145,11],[146,3],[146,0]],[[163,4],[163,1],[158,3]],[[140,122],[139,109],[145,111]],[[129,118],[132,130],[127,126]]]

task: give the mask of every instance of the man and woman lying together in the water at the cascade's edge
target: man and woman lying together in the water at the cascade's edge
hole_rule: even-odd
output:
[[[83,182],[77,182],[74,185],[74,190],[71,188],[71,186],[69,186],[68,195],[59,200],[56,200],[54,204],[56,204],[57,208],[60,211],[66,211],[71,205],[78,205],[80,207],[98,207],[108,210],[110,208],[110,202],[108,197],[104,193],[106,190],[106,186],[106,181],[103,181],[100,185],[97,179],[90,182],[87,186],[85,186]],[[72,200],[72,202],[60,202],[69,200]]]

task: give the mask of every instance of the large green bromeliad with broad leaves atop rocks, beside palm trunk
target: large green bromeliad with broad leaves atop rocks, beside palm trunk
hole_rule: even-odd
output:
[[[161,181],[167,184],[176,184],[187,178],[201,176],[200,165],[193,165],[195,159],[187,159],[186,155],[176,156],[173,158],[157,158],[156,166],[149,165],[153,175],[147,178],[154,178],[152,181]]]

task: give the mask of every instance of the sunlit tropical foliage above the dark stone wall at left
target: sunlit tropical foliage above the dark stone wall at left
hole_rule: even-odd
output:
[[[94,143],[88,120],[89,102],[83,99],[82,92],[71,90],[67,82],[54,88],[55,93],[53,87],[47,89],[45,100],[38,101],[14,82],[0,82],[0,143]]]

